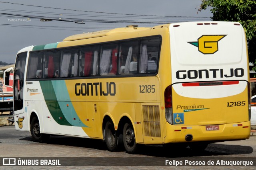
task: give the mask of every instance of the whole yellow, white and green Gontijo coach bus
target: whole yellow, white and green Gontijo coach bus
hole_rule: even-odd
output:
[[[20,50],[15,127],[34,141],[68,135],[138,144],[209,143],[250,137],[244,29],[184,22],[72,35]]]

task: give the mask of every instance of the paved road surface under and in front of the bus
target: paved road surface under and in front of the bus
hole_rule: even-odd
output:
[[[109,152],[104,142],[95,139],[84,139],[66,136],[51,136],[46,143],[35,143],[29,132],[16,131],[14,126],[0,127],[0,159],[1,158],[64,158],[62,165],[67,165],[66,160],[84,160],[83,166],[40,166],[40,169],[256,169],[256,136],[248,140],[227,141],[209,144],[201,152],[189,148],[178,150],[176,148],[166,150],[162,145],[141,146],[137,154],[128,154],[124,150]],[[66,159],[65,159],[66,158]],[[96,158],[91,160],[88,158]],[[254,166],[166,166],[165,160],[182,161],[208,161],[218,159],[248,160],[253,161]],[[102,161],[106,161],[106,165]],[[126,160],[126,161],[124,161]],[[86,163],[87,161],[87,163]],[[91,163],[90,163],[91,161]],[[96,162],[95,162],[96,161]],[[97,163],[98,161],[98,163]],[[124,164],[120,166],[120,162]],[[145,161],[148,165],[145,166]],[[160,166],[152,166],[157,162]],[[161,165],[162,161],[162,165]],[[81,161],[80,161],[81,162]],[[153,162],[153,163],[152,163]],[[1,163],[1,160],[0,160]],[[78,165],[79,162],[78,162]],[[89,165],[89,166],[86,166]],[[97,166],[98,165],[98,166]],[[117,166],[118,165],[118,166]],[[141,166],[142,165],[142,166]],[[146,163],[147,165],[147,163]],[[188,164],[186,164],[188,165]],[[35,166],[8,166],[0,164],[0,169],[33,169]],[[39,167],[37,167],[39,168]]]

